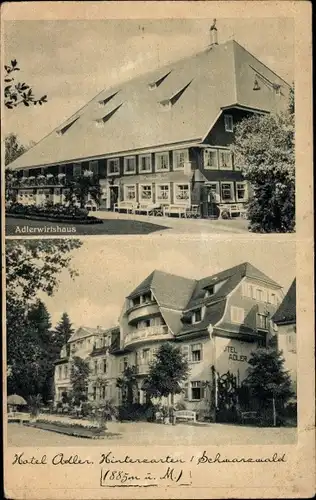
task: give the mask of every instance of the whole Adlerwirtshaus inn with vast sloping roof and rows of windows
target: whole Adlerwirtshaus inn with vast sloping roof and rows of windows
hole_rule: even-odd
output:
[[[242,207],[249,186],[230,151],[235,126],[285,110],[290,87],[235,40],[210,34],[200,53],[106,88],[12,162],[17,201],[65,203],[67,182],[89,171],[100,209],[193,204],[207,217],[211,193]]]

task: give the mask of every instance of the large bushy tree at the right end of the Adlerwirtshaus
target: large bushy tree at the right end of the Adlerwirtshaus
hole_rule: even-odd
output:
[[[253,188],[248,206],[253,232],[295,230],[294,91],[288,110],[255,115],[236,125],[235,166]]]

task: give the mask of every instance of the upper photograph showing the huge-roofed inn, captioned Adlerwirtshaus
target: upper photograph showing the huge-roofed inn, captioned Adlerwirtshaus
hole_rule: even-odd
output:
[[[6,236],[295,232],[294,23],[6,21]]]

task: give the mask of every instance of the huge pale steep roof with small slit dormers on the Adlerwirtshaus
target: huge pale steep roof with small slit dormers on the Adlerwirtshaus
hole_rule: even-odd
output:
[[[199,141],[224,107],[284,108],[285,94],[276,97],[263,84],[261,91],[253,91],[256,71],[283,88],[287,86],[234,40],[208,47],[103,90],[10,167],[54,165]]]

